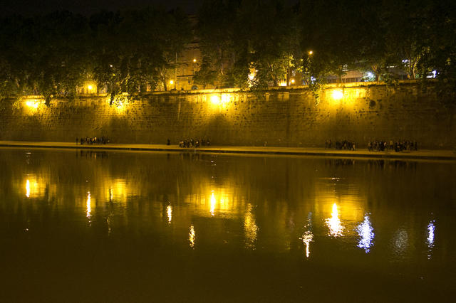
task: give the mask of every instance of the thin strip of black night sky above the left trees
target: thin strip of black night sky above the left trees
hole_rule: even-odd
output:
[[[0,0],[0,14],[35,15],[51,11],[68,10],[91,14],[100,10],[135,9],[147,5],[161,5],[166,9],[180,6],[187,13],[195,14],[201,0]]]

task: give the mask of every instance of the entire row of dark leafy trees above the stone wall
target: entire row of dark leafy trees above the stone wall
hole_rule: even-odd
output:
[[[197,38],[200,86],[262,89],[324,83],[348,69],[375,80],[435,75],[456,87],[456,2],[452,0],[205,0],[197,24],[175,9],[68,11],[0,20],[0,99],[6,95],[76,96],[95,80],[114,97],[167,83],[176,57]],[[312,51],[312,52],[310,52]],[[254,78],[249,74],[254,74]]]

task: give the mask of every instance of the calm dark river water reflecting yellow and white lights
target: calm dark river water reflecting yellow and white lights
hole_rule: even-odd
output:
[[[0,149],[1,302],[451,302],[456,164]]]

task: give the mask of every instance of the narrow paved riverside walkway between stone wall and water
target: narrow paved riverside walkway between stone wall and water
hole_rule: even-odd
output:
[[[219,154],[271,154],[290,156],[331,156],[348,158],[377,158],[377,159],[427,159],[456,161],[456,151],[440,149],[423,149],[418,151],[356,151],[308,148],[308,147],[234,147],[211,146],[197,148],[181,148],[177,145],[165,144],[75,144],[74,142],[21,142],[0,141],[0,147],[22,148],[55,148],[55,149],[100,149],[123,151],[175,151],[200,152]]]

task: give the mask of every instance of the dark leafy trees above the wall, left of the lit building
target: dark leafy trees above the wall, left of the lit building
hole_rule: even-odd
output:
[[[145,85],[166,89],[176,53],[191,39],[188,17],[178,9],[10,16],[0,21],[0,98],[74,97],[88,80],[112,97]]]

